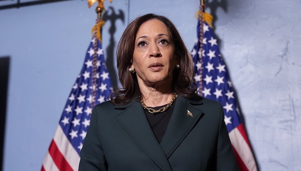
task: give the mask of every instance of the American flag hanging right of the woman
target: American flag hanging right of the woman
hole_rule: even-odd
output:
[[[197,91],[203,97],[219,101],[222,104],[225,113],[224,121],[239,169],[256,171],[256,162],[236,106],[234,88],[219,52],[217,40],[209,25],[203,22],[203,48],[200,48],[200,20],[197,26],[197,35],[198,41],[191,52]]]

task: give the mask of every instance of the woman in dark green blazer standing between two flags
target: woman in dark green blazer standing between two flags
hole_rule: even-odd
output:
[[[222,106],[197,96],[191,56],[169,19],[132,21],[117,67],[123,88],[94,108],[79,170],[238,170]]]

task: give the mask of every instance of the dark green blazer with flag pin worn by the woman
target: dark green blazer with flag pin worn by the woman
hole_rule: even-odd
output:
[[[192,113],[188,115],[188,110]],[[178,95],[159,144],[141,103],[97,105],[80,171],[238,170],[220,103]]]

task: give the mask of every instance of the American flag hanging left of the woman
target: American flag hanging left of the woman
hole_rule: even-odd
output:
[[[111,79],[101,43],[93,38],[44,158],[42,171],[78,170],[79,152],[90,125],[92,109],[95,104],[107,101],[111,91]]]

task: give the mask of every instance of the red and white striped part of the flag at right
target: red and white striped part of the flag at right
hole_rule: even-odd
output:
[[[240,124],[234,128],[229,133],[229,137],[239,169],[241,171],[257,171],[256,162],[243,125]]]

